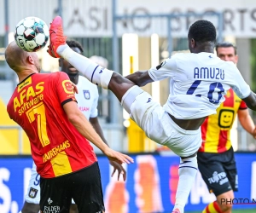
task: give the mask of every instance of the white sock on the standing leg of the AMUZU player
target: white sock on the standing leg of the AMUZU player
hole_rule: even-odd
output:
[[[178,184],[176,192],[176,201],[173,210],[178,209],[184,212],[184,206],[189,198],[190,190],[194,184],[197,173],[196,156],[192,158],[181,158],[178,168]]]

